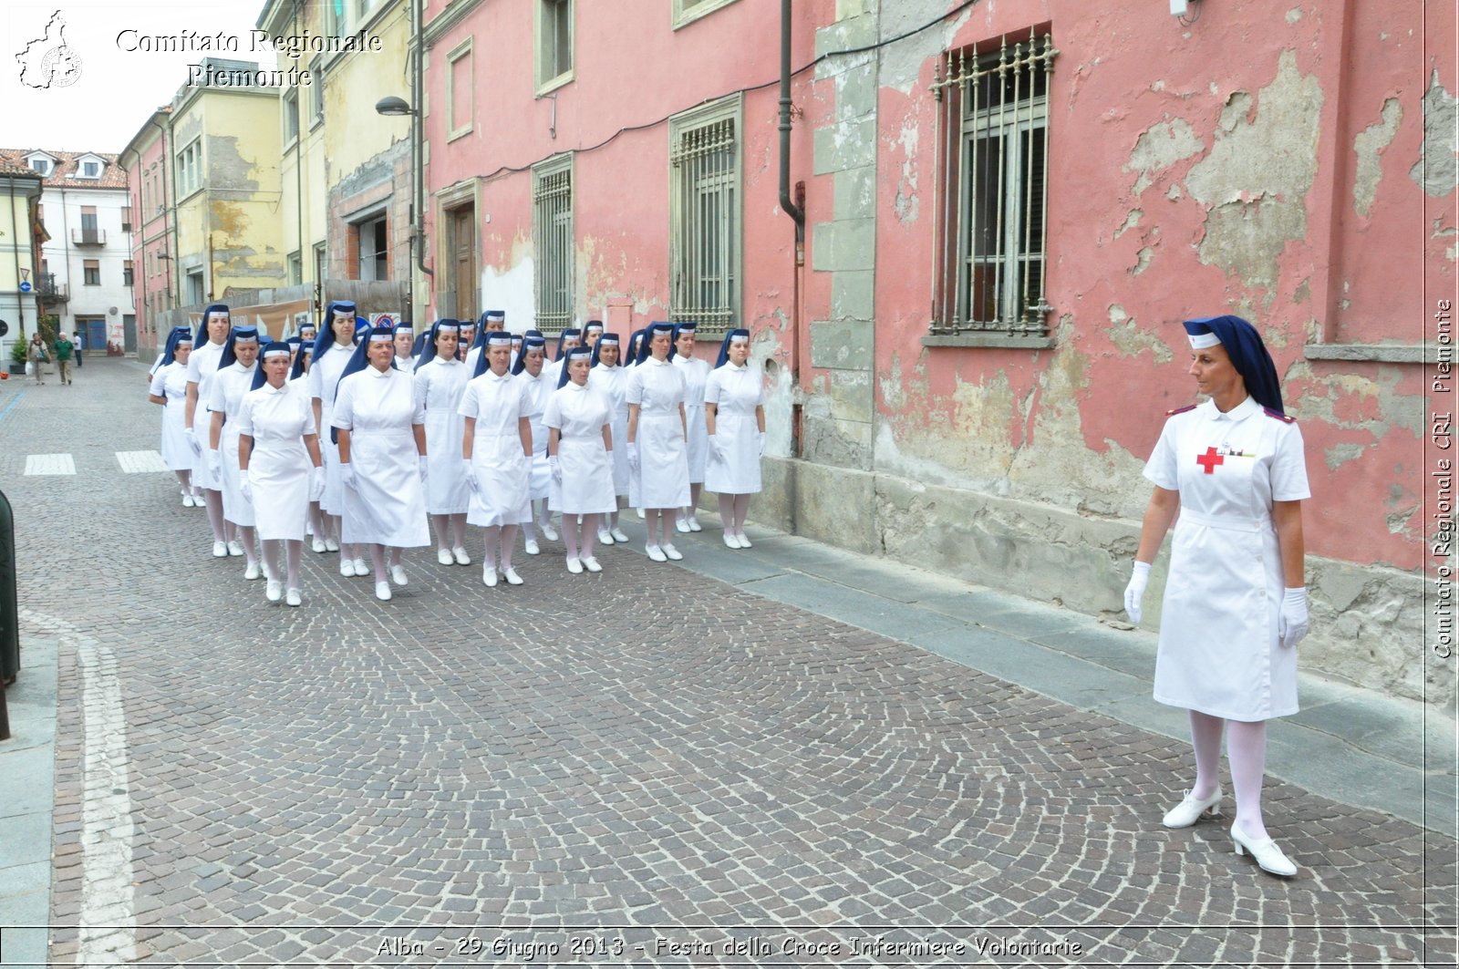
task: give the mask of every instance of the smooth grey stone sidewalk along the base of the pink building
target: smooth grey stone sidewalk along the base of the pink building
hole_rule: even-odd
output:
[[[754,595],[921,646],[1081,711],[1191,741],[1185,711],[1151,699],[1156,636],[935,572],[767,528],[751,550],[676,536],[683,565]],[[626,524],[642,522],[624,512]],[[713,524],[711,524],[713,522]],[[1344,804],[1456,836],[1456,727],[1423,703],[1303,674],[1301,712],[1272,721],[1266,772]]]

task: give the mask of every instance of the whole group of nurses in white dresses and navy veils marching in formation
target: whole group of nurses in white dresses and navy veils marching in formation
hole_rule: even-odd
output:
[[[506,331],[500,311],[417,337],[336,301],[318,331],[270,341],[219,304],[196,334],[169,334],[149,400],[213,556],[242,557],[268,601],[301,606],[305,546],[337,552],[340,575],[374,576],[387,601],[410,581],[404,550],[432,541],[441,566],[470,566],[480,547],[483,585],[525,584],[512,555],[541,556],[554,515],[569,574],[604,571],[598,549],[629,541],[627,505],[645,509],[651,560],[683,559],[674,531],[702,528],[700,486],[719,493],[725,546],[748,549],[765,442],[748,336],[730,331],[711,368],[692,324],[624,343],[591,320],[549,360],[546,337]]]

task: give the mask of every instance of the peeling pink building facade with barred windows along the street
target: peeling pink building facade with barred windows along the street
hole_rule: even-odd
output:
[[[1307,442],[1306,663],[1452,702],[1455,10],[1164,7],[798,0],[798,245],[781,3],[432,0],[433,308],[746,325],[751,517],[1115,620],[1144,460],[1195,403],[1180,321],[1243,315]]]

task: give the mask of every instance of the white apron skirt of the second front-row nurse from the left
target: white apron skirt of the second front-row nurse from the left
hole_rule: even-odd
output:
[[[350,433],[355,487],[344,495],[341,541],[395,549],[430,544],[426,493],[420,487],[420,454],[409,429]]]

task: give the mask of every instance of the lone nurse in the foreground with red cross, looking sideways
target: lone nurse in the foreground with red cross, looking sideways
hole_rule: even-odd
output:
[[[1307,635],[1301,502],[1312,492],[1301,431],[1252,324],[1210,317],[1185,327],[1188,372],[1210,400],[1172,410],[1160,432],[1145,466],[1156,492],[1125,590],[1125,611],[1139,623],[1150,563],[1174,520],[1154,696],[1189,711],[1195,782],[1163,823],[1218,814],[1224,728],[1236,854],[1290,877],[1297,865],[1262,822],[1262,775],[1266,721],[1297,712],[1297,642]]]

